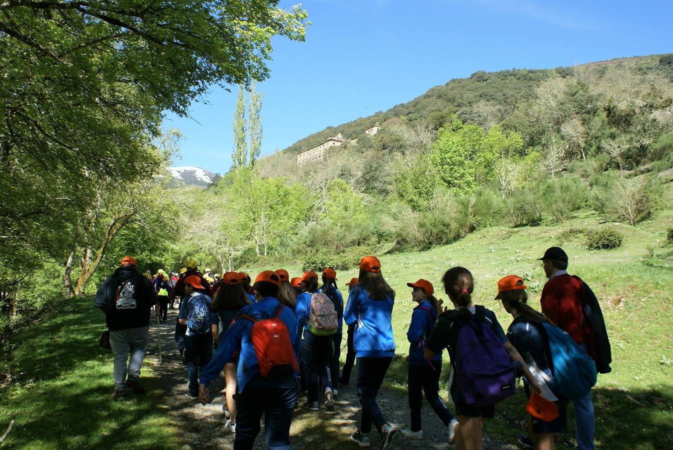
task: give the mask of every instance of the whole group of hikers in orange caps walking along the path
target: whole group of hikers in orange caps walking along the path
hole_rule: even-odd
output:
[[[542,312],[528,305],[520,276],[505,276],[494,289],[495,299],[513,318],[506,333],[493,311],[474,305],[474,280],[466,268],[450,268],[441,279],[450,307],[435,297],[428,280],[406,283],[417,305],[406,332],[411,426],[400,430],[377,404],[396,349],[396,293],[375,256],[362,258],[358,278],[345,283],[346,303],[332,268],[324,268],[320,276],[307,271],[296,278],[287,270],[264,270],[253,282],[245,272],[202,274],[190,260],[179,274],[162,270],[155,276],[147,272],[148,277],[137,270],[133,258],[125,257],[96,294],[96,306],[106,312],[114,354],[111,398],[126,398],[127,387],[144,393],[139,375],[151,307],[158,301],[158,317],[166,321],[162,305],[177,299],[176,342],[188,374],[185,395],[209,403],[209,386],[224,373],[225,428],[236,433],[234,449],[253,448],[262,416],[267,446],[289,449],[293,410],[301,406],[320,411],[321,404],[334,410],[339,385],[349,385],[356,361],[361,414],[350,440],[360,447],[371,445],[372,426],[382,449],[400,436],[423,439],[425,394],[450,443],[459,450],[481,449],[483,418],[495,416],[495,405],[515,393],[516,378],[523,377],[530,416],[528,435],[520,435],[518,443],[554,449],[555,433],[565,432],[571,401],[577,448],[593,449],[591,387],[597,372],[610,371],[602,314],[586,283],[568,274],[568,257],[561,248],[549,248],[540,260],[548,277]],[[164,296],[168,300],[158,300]],[[340,373],[343,322],[348,350]],[[439,395],[444,348],[451,361],[449,393],[455,415]],[[306,402],[299,405],[304,393]]]

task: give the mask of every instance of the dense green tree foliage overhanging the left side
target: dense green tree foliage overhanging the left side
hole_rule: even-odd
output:
[[[55,279],[79,294],[122,252],[171,254],[175,207],[156,177],[178,134],[160,136],[164,111],[268,77],[271,38],[306,27],[278,3],[0,2],[0,324]]]

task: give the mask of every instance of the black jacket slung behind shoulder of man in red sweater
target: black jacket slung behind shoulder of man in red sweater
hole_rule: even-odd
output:
[[[579,276],[573,275],[573,277],[577,278],[582,285],[582,328],[586,336],[587,353],[594,359],[598,373],[609,373],[612,371],[610,368],[612,351],[608,330],[605,328],[603,312],[594,291],[591,290],[589,285],[584,283]]]

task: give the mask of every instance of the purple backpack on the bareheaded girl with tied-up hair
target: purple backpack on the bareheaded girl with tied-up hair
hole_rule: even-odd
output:
[[[492,405],[516,393],[514,364],[491,330],[485,307],[477,305],[472,320],[454,324],[449,352],[465,402]]]

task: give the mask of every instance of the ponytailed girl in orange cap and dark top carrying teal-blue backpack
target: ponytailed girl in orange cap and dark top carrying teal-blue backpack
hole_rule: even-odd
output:
[[[536,311],[526,302],[526,285],[520,276],[507,275],[498,281],[498,295],[495,299],[502,301],[505,311],[513,317],[513,322],[507,329],[507,338],[509,342],[518,350],[520,354],[526,354],[528,364],[534,364],[536,369],[542,371],[547,377],[552,376],[551,355],[548,347],[544,344],[544,327],[542,322],[555,326],[546,315]],[[524,383],[526,396],[530,397],[530,387]],[[559,396],[552,389],[554,396],[558,398],[555,401],[559,408],[559,416],[554,420],[545,422],[537,418],[528,418],[528,432],[532,438],[536,450],[554,450],[555,434],[565,433],[566,429],[566,407],[568,400]]]

